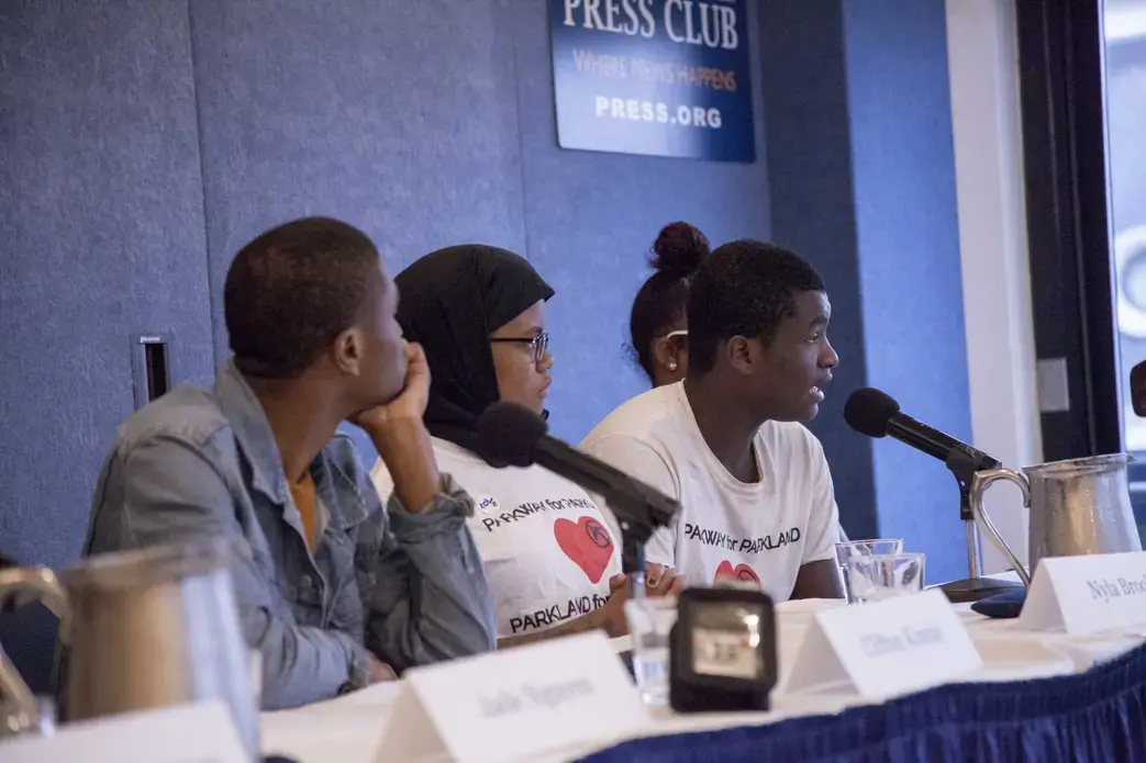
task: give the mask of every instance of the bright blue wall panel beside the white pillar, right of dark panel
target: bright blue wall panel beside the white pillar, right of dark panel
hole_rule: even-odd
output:
[[[944,6],[843,8],[869,383],[904,412],[970,441]],[[925,551],[929,580],[966,576],[950,472],[898,442],[878,442],[873,454],[880,530]]]

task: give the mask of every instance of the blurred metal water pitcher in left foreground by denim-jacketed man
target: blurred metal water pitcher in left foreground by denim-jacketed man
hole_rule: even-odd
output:
[[[222,541],[93,557],[57,576],[0,571],[0,606],[31,595],[61,619],[68,721],[222,700],[257,760],[259,714]],[[2,655],[2,653],[0,653]],[[0,659],[0,736],[42,727],[42,705]]]

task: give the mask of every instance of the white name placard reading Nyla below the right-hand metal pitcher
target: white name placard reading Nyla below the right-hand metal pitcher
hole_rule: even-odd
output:
[[[1146,551],[1051,557],[1035,569],[1019,627],[1086,636],[1146,624]]]

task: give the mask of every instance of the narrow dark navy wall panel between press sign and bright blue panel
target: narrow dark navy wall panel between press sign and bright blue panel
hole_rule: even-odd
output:
[[[845,528],[851,537],[872,537],[871,441],[849,430],[840,412],[868,379],[841,9],[824,0],[761,6],[772,237],[824,276],[832,302],[829,338],[840,356],[811,430],[832,466]]]

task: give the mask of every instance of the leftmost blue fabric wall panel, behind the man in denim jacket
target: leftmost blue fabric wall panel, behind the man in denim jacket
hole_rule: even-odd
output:
[[[71,560],[128,335],[211,378],[185,0],[0,3],[0,548]]]

